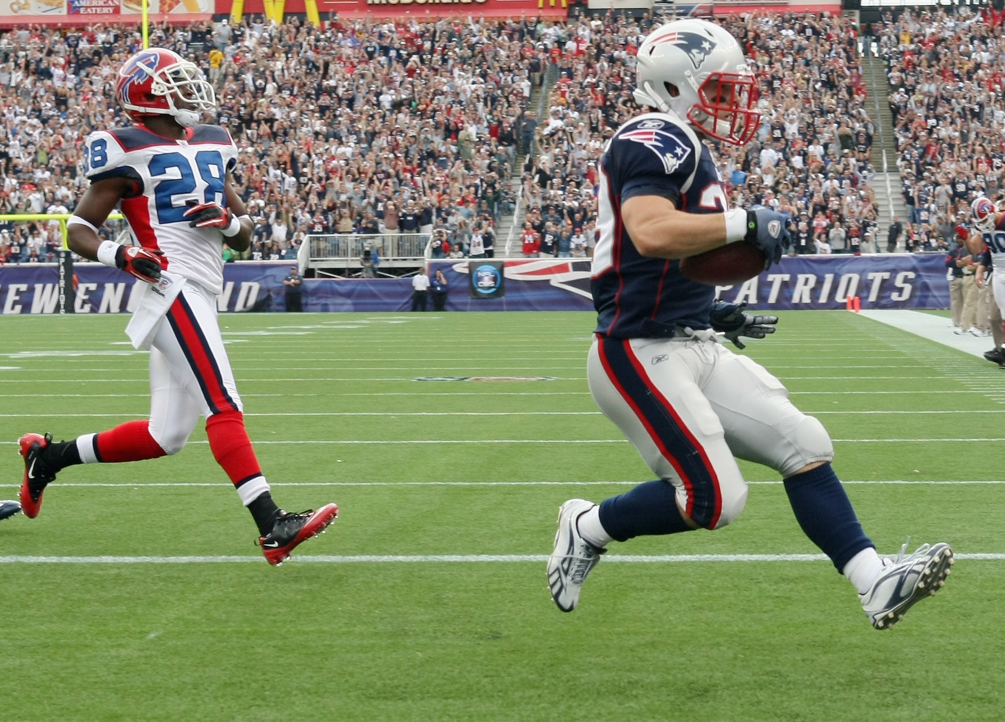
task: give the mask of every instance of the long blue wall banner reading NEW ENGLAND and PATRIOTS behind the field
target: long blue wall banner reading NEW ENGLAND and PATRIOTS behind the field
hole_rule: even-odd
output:
[[[593,310],[590,261],[586,259],[495,260],[506,283],[501,297],[471,298],[471,275],[478,261],[432,261],[430,274],[443,271],[447,310]],[[227,263],[217,307],[223,311],[285,310],[282,279],[290,263]],[[74,266],[77,313],[130,310],[135,279],[99,263]],[[475,279],[476,280],[476,279]],[[411,307],[410,278],[306,279],[307,311],[403,311]],[[846,296],[862,308],[948,308],[945,257],[938,253],[783,258],[770,271],[744,284],[725,286],[719,296],[748,301],[752,308],[844,308]],[[55,264],[0,266],[0,313],[57,313],[59,273]]]

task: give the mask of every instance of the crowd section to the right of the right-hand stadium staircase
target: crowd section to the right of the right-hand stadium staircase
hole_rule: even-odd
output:
[[[959,6],[874,29],[887,62],[909,250],[941,250],[979,195],[1002,190],[1002,27]]]

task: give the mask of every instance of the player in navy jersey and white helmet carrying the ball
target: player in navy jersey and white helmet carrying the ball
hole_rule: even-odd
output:
[[[751,140],[755,82],[736,39],[705,20],[663,25],[638,49],[635,99],[649,111],[621,126],[601,159],[587,376],[657,480],[599,505],[562,505],[548,583],[563,612],[612,541],[733,521],[747,499],[736,458],[782,475],[803,531],[855,586],[876,629],[938,590],[953,563],[946,543],[910,555],[904,545],[896,559],[876,553],[831,468],[823,426],[717,334],[742,348],[740,336],[763,338],[778,319],[718,301],[714,287],[680,272],[680,258],[728,243],[761,249],[767,267],[790,243],[784,216],[729,208],[706,146]]]

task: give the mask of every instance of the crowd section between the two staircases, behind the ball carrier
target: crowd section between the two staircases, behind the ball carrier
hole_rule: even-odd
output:
[[[754,142],[715,145],[731,203],[788,213],[793,253],[874,250],[876,207],[867,184],[875,129],[864,108],[852,21],[757,13],[722,22],[761,79]],[[525,255],[582,255],[581,235],[592,245],[597,164],[607,139],[637,110],[634,56],[650,27],[648,18],[607,17],[568,29],[549,117],[538,129],[540,155],[524,168]]]

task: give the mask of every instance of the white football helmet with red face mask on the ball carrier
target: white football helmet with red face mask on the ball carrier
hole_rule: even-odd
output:
[[[638,49],[635,100],[672,112],[717,140],[743,146],[757,133],[757,79],[740,43],[708,20],[674,20]]]

